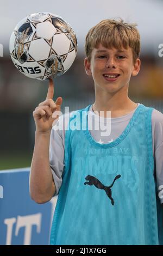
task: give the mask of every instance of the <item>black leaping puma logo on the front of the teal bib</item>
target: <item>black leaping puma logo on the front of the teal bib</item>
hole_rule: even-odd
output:
[[[114,185],[114,182],[117,180],[117,179],[120,179],[121,175],[117,175],[114,179],[114,181],[112,182],[112,184],[110,186],[105,186],[102,184],[101,181],[99,181],[96,177],[94,176],[91,176],[91,175],[87,175],[85,177],[86,182],[84,182],[84,185],[95,185],[95,187],[99,188],[99,190],[105,190],[106,192],[106,195],[109,197],[109,199],[111,200],[111,204],[114,205],[114,199],[111,197],[111,187]]]

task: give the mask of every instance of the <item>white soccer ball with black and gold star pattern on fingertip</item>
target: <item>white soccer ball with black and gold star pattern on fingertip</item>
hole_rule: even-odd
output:
[[[10,37],[10,54],[16,68],[39,80],[64,74],[76,58],[77,47],[70,24],[52,13],[27,16]]]

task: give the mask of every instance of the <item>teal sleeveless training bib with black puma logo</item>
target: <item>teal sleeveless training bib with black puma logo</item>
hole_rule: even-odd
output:
[[[51,245],[163,244],[153,108],[140,104],[120,137],[99,144],[88,130],[89,107],[74,113],[65,134],[65,168]]]

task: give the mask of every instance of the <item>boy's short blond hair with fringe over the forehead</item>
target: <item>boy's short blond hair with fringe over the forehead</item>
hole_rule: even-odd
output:
[[[137,31],[136,23],[124,23],[120,20],[102,20],[95,27],[92,27],[86,35],[85,53],[88,60],[91,60],[93,48],[102,44],[106,48],[118,50],[131,47],[133,62],[140,54],[140,34]]]

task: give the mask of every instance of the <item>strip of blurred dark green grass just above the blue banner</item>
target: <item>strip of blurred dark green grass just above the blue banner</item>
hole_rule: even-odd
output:
[[[30,152],[0,153],[0,170],[29,167],[32,154]]]

